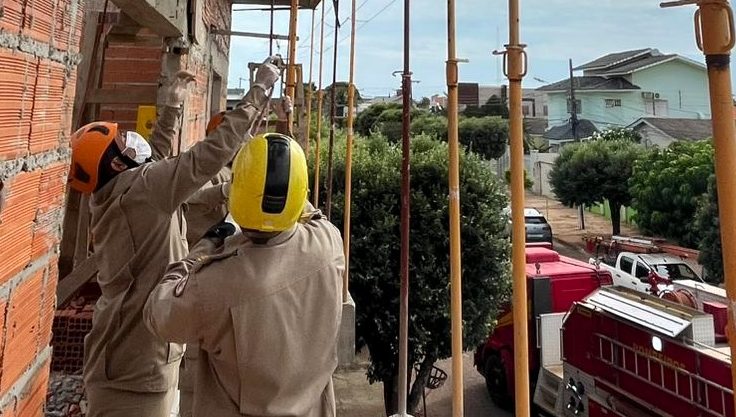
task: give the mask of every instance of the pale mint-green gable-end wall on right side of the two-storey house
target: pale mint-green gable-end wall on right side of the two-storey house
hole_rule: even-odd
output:
[[[635,72],[632,82],[641,87],[642,91],[659,93],[661,100],[667,100],[668,117],[710,118],[710,94],[705,68],[682,61],[670,61]],[[638,96],[643,106],[644,99],[641,94]],[[649,107],[651,108],[651,103]]]

